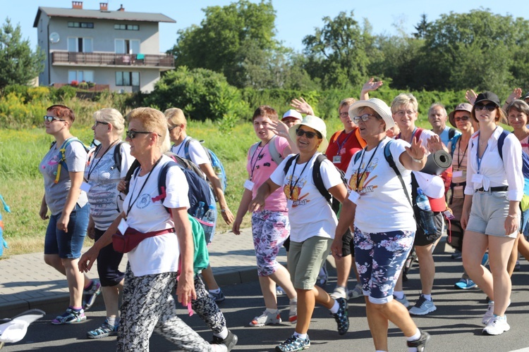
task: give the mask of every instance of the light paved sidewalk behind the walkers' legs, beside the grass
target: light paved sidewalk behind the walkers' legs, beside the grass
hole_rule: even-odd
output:
[[[286,263],[284,249],[278,259]],[[231,232],[215,234],[209,246],[209,261],[220,286],[257,280],[251,229],[242,230],[239,236]],[[121,270],[125,270],[126,263],[125,256],[121,260]],[[96,265],[88,276],[97,277]],[[32,308],[51,312],[68,305],[66,277],[46,265],[42,253],[1,259],[0,277],[0,319]]]

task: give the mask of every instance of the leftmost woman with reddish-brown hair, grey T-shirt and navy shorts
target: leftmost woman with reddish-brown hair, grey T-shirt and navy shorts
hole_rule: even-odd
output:
[[[78,270],[90,206],[86,192],[80,188],[87,153],[83,144],[70,132],[74,120],[75,115],[67,106],[47,108],[44,127],[55,141],[39,164],[39,171],[44,177],[44,196],[39,215],[42,220],[49,219],[44,238],[44,262],[66,275],[70,292],[70,305],[65,313],[51,320],[54,325],[86,320],[83,287],[85,284],[98,285]]]

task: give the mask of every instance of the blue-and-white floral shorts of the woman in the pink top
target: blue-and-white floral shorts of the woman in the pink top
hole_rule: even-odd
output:
[[[276,260],[277,253],[290,235],[288,213],[270,210],[255,211],[252,215],[252,234],[257,258],[257,274],[259,276],[274,274],[281,265]]]

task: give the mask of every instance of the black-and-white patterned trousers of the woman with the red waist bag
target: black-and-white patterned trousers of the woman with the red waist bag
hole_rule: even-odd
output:
[[[149,351],[153,331],[177,351],[211,351],[211,345],[176,316],[174,282],[176,272],[135,277],[127,265],[116,351]]]

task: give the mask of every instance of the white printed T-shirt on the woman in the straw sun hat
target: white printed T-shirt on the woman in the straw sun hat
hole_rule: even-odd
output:
[[[389,140],[386,137],[378,148],[370,151],[363,149],[355,153],[346,171],[346,180],[351,188],[349,199],[356,203],[355,227],[362,232],[416,230],[410,202],[406,199],[399,177],[384,157],[384,146]],[[404,168],[399,161],[401,153],[406,151],[405,146],[410,144],[396,139],[391,142],[389,151],[401,172],[408,194],[411,195],[411,171]],[[355,162],[358,153],[360,156]],[[363,157],[362,153],[364,153]],[[360,178],[359,182],[357,182],[358,178]],[[354,193],[357,192],[360,198],[354,200]]]

